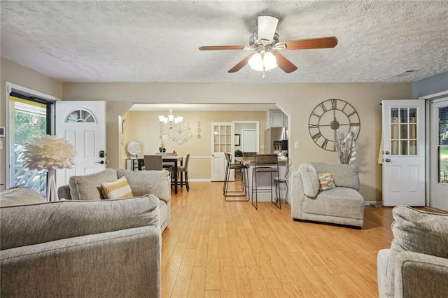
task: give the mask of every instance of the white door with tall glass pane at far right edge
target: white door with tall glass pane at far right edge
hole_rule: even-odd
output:
[[[430,103],[429,206],[448,211],[448,98]]]

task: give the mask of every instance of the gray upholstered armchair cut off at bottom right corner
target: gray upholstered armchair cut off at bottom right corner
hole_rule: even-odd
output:
[[[448,214],[392,211],[391,248],[379,250],[379,297],[447,297]]]

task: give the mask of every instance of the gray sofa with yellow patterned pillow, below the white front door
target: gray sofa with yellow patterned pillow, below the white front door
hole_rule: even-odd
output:
[[[160,229],[167,228],[171,220],[171,180],[169,171],[129,171],[124,169],[105,169],[99,173],[71,176],[69,185],[59,187],[59,199],[91,201],[104,199],[102,183],[111,183],[125,177],[135,197],[153,194],[159,199]]]

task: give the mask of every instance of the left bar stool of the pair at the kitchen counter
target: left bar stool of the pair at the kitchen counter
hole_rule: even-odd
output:
[[[248,173],[247,166],[244,164],[232,164],[232,155],[228,152],[224,153],[227,166],[225,166],[225,178],[223,185],[223,194],[225,201],[248,201],[247,199],[228,199],[228,197],[246,197],[248,195]],[[228,190],[230,173],[233,170],[239,170],[241,172],[241,190]]]

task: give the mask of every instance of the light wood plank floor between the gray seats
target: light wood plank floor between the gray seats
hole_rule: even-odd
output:
[[[391,208],[365,207],[363,229],[295,222],[290,206],[226,202],[222,183],[172,194],[162,234],[162,297],[377,297],[377,252]]]

